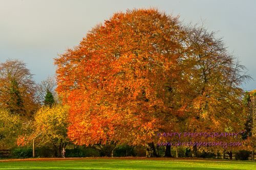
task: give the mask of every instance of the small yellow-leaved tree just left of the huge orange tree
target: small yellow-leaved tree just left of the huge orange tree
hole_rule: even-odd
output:
[[[27,134],[19,136],[17,144],[25,145],[33,141],[33,145],[34,143],[50,145],[55,151],[54,155],[60,157],[62,148],[65,148],[69,142],[67,116],[68,106],[41,107],[35,114],[34,123],[31,126],[32,130],[28,130]]]

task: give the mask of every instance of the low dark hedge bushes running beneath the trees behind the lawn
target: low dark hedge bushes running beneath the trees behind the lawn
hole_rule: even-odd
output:
[[[54,157],[54,150],[51,148],[36,148],[36,157]],[[103,157],[111,156],[111,150],[108,147],[103,147],[100,150],[94,147],[75,147],[73,149],[66,149],[66,157]],[[164,147],[158,149],[160,156],[164,156]],[[176,156],[176,150],[172,150],[172,155]],[[250,151],[236,152],[236,159],[248,160]],[[114,157],[127,157],[127,156],[145,156],[145,149],[142,146],[131,147],[129,145],[119,145],[114,150]],[[192,151],[186,148],[178,148],[178,157],[191,157]],[[216,158],[216,154],[210,152],[198,152],[198,157],[201,158]],[[31,158],[32,148],[20,147],[11,150],[12,158]]]

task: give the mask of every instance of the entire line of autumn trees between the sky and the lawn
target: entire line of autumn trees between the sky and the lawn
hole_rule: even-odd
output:
[[[223,148],[159,147],[166,138],[157,133],[243,132],[221,138],[244,143],[224,153],[255,150],[255,92],[240,87],[250,77],[203,27],[155,9],[127,10],[55,64],[57,83],[36,85],[22,61],[1,63],[1,148],[33,146],[32,156],[45,148],[42,156],[60,157],[67,148],[73,156],[213,157]]]

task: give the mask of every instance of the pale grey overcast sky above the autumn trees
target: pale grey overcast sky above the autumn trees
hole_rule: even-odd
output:
[[[0,0],[0,62],[20,59],[39,83],[55,74],[53,58],[78,45],[97,23],[113,13],[157,7],[185,23],[200,23],[218,31],[228,50],[254,79],[256,88],[256,1],[36,1]]]

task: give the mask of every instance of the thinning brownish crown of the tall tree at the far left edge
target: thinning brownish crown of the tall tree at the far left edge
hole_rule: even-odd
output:
[[[0,106],[11,113],[31,115],[35,112],[35,83],[33,75],[20,60],[0,63]]]

